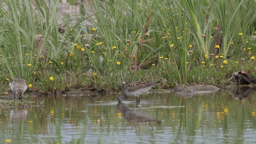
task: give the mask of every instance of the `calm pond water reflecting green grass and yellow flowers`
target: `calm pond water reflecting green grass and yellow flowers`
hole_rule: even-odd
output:
[[[29,96],[42,107],[0,110],[0,143],[183,144],[256,141],[255,88],[190,98],[154,93],[117,102],[116,94]],[[2,99],[12,99],[1,97]]]

